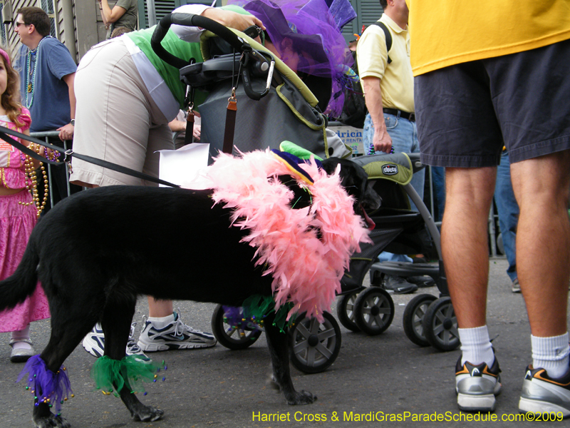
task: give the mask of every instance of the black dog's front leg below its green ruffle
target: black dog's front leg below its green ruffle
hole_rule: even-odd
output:
[[[289,336],[274,326],[273,322],[272,315],[264,320],[267,346],[273,364],[273,380],[285,394],[288,404],[311,404],[316,396],[308,391],[297,392],[293,386],[289,370]]]

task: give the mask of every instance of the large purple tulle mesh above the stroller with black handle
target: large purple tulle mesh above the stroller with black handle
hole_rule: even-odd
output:
[[[299,53],[297,74],[301,78],[307,74],[331,79],[332,91],[328,94],[325,113],[330,112],[333,116],[341,113],[344,102],[341,77],[354,61],[325,0],[229,0],[228,4],[242,6],[263,22],[281,59],[285,55],[281,44],[284,39],[291,39]],[[342,14],[339,21],[352,19],[346,14],[346,7]],[[311,87],[309,83],[307,86],[319,98],[320,88],[314,84]]]

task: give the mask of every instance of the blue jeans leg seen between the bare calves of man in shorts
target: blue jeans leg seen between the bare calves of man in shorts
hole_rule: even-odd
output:
[[[499,227],[503,238],[504,253],[507,255],[509,268],[507,275],[512,281],[517,279],[517,224],[519,223],[519,205],[514,198],[511,183],[511,163],[509,153],[504,151],[501,163],[497,166],[497,183],[494,188],[494,203],[499,214]]]

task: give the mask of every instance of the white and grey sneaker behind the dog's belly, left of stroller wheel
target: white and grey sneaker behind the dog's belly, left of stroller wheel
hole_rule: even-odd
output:
[[[211,333],[194,330],[185,325],[176,312],[174,312],[174,322],[162,329],[155,328],[146,317],[142,322],[145,323],[145,327],[142,328],[137,343],[145,352],[205,348],[212,347],[217,342]]]

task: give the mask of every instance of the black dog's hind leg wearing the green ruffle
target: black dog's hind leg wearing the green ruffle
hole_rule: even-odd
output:
[[[120,299],[123,301],[121,302]],[[130,322],[133,320],[133,315],[135,315],[135,303],[135,300],[125,302],[125,296],[110,295],[108,303],[105,305],[101,319],[101,327],[103,327],[103,332],[105,333],[105,355],[113,360],[122,360],[125,357]],[[143,422],[152,422],[160,419],[164,414],[161,409],[145,406],[145,404],[139,401],[136,394],[133,394],[125,368],[121,370],[121,375],[125,384],[118,393],[120,399],[123,400],[123,403],[129,410],[131,417]],[[116,390],[117,385],[114,385],[114,387]]]

